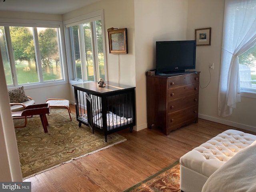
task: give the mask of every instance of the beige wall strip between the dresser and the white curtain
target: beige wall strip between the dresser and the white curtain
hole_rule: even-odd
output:
[[[223,16],[223,0],[189,1],[188,37],[194,38],[195,29],[212,28],[211,45],[196,47],[196,70],[201,72],[200,86],[202,88],[199,90],[198,110],[201,115],[217,117]],[[210,62],[214,63],[214,70],[209,72]],[[210,84],[207,86],[209,81]]]

